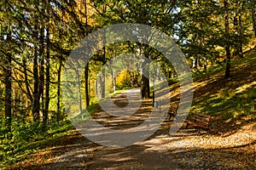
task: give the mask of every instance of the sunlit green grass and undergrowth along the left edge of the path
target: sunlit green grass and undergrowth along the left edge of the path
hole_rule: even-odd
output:
[[[47,128],[42,131],[40,124],[14,124],[13,138],[1,140],[0,168],[24,161],[37,150],[60,144],[61,138],[74,129],[69,121],[49,123]]]

